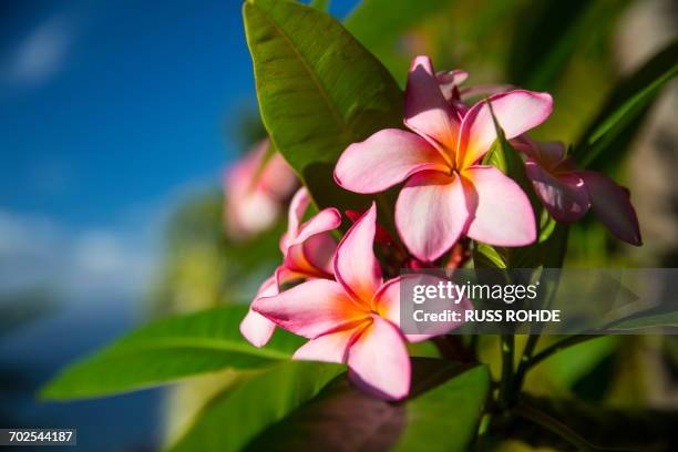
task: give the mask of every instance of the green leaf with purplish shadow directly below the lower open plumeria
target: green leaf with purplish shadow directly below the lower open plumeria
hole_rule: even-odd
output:
[[[487,369],[427,358],[412,364],[411,399],[388,403],[338,380],[247,450],[468,451],[490,392]]]

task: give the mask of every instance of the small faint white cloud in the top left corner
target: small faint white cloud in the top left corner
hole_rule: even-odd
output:
[[[8,55],[0,74],[11,84],[35,86],[53,76],[65,63],[72,47],[74,24],[55,16],[35,27]]]

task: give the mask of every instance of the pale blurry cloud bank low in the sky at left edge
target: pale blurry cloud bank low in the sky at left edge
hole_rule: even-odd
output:
[[[0,210],[0,291],[45,287],[64,302],[137,299],[155,260],[144,225],[76,232],[40,215]]]

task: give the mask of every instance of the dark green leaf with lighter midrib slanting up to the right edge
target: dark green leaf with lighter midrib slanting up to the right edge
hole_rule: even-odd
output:
[[[619,162],[661,89],[678,75],[678,40],[623,80],[575,147],[581,166]]]

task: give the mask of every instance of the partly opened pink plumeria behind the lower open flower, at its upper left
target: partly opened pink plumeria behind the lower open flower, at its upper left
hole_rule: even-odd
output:
[[[336,208],[326,208],[301,224],[310,198],[305,187],[292,197],[289,205],[287,232],[280,239],[284,260],[275,274],[266,279],[255,300],[278,295],[284,284],[309,278],[333,278],[332,257],[337,240],[331,230],[341,224],[341,214]],[[249,309],[240,322],[240,332],[256,347],[265,346],[273,336],[276,325]]]

